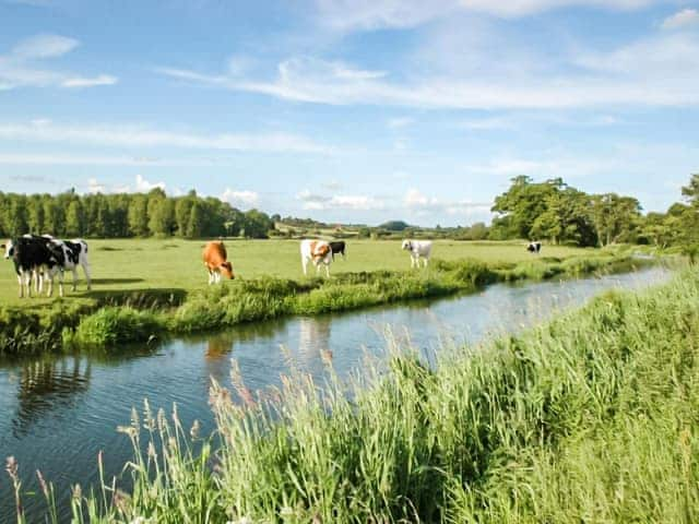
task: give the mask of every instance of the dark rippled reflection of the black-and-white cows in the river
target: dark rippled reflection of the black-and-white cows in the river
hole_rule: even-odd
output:
[[[90,360],[78,357],[38,360],[24,366],[17,384],[15,434],[26,433],[44,414],[74,402],[75,395],[87,390],[91,374]]]

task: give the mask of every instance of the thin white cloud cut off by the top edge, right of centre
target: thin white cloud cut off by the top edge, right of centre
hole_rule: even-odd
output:
[[[455,12],[518,17],[566,7],[633,10],[662,0],[316,0],[322,25],[336,31],[414,27]]]

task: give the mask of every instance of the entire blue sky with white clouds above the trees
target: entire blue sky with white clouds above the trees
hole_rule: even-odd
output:
[[[2,191],[465,225],[529,175],[659,211],[698,117],[697,1],[0,0]]]

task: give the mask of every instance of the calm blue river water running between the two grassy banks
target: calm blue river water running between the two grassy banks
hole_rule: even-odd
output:
[[[130,348],[114,357],[0,361],[0,458],[17,458],[26,490],[36,488],[34,472],[40,468],[64,496],[64,503],[70,485],[84,487],[96,479],[99,450],[108,477],[131,457],[128,439],[116,427],[128,424],[131,407],[141,410],[145,397],[154,408],[166,410],[177,403],[186,425],[199,419],[204,432],[211,431],[210,378],[229,385],[230,358],[239,362],[251,390],[276,384],[287,370],[282,346],[300,369],[318,378],[323,376],[320,352],[331,349],[342,374],[357,368],[365,349],[383,350],[387,326],[399,336],[410,333],[413,345],[424,349],[436,348],[440,338],[473,343],[581,305],[605,289],[639,288],[668,275],[666,270],[651,269],[562,283],[496,285],[451,299],[262,322],[174,341],[155,350]],[[38,498],[25,497],[24,502],[29,522],[37,521]],[[0,522],[11,522],[13,515],[9,478],[2,471]]]

